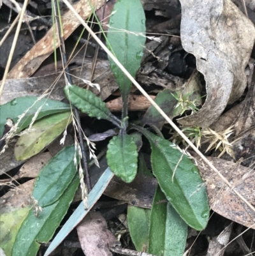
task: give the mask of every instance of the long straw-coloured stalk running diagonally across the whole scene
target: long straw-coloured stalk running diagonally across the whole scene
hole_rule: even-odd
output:
[[[77,19],[85,27],[85,29],[87,29],[87,31],[89,33],[91,33],[91,36],[94,38],[94,40],[96,40],[99,43],[99,45],[105,50],[105,52],[108,54],[108,56],[119,66],[120,70],[122,70],[122,72],[131,80],[131,82],[133,82],[133,84],[135,84],[135,86],[139,89],[139,91],[149,100],[149,102],[152,104],[152,106],[154,106],[155,109],[157,109],[157,111],[161,114],[161,116],[163,116],[164,119],[166,119],[166,121],[168,121],[168,123],[173,127],[173,129],[175,129],[175,131],[180,134],[180,136],[187,142],[187,144],[189,144],[189,146],[191,146],[191,148],[201,157],[201,159],[205,163],[207,163],[208,167],[210,167],[212,170],[214,170],[214,172],[216,172],[217,175],[219,177],[221,177],[222,181],[224,181],[224,183],[226,183],[230,188],[232,188],[232,185],[230,184],[230,182],[221,174],[221,172],[219,172],[219,170],[217,170],[214,167],[214,165],[210,161],[207,160],[207,158],[200,152],[200,150],[196,146],[194,146],[194,144],[186,137],[186,135],[177,127],[177,125],[175,125],[173,123],[173,121],[171,121],[170,117],[168,117],[164,113],[164,111],[159,107],[159,105],[157,105],[157,103],[154,102],[154,100],[152,100],[152,98],[150,98],[149,94],[146,93],[146,91],[142,88],[142,86],[140,86],[140,84],[138,84],[138,82],[136,82],[136,80],[129,74],[129,72],[126,70],[126,68],[124,68],[124,66],[122,66],[122,64],[118,61],[118,59],[116,59],[116,57],[113,56],[112,52],[110,52],[110,50],[107,49],[107,47],[103,44],[103,42],[98,39],[98,36],[96,36],[96,34],[91,30],[91,28],[89,26],[87,26],[87,24],[80,17],[80,15],[78,15],[77,11],[75,11],[75,9],[73,8],[73,6],[71,6],[71,4],[68,2],[68,0],[63,0],[63,2],[66,4],[66,6],[68,6],[69,10],[71,10],[73,12],[75,17],[77,17]],[[237,190],[233,189],[232,191],[243,202],[245,202],[245,204],[247,204],[247,206],[249,206],[252,209],[252,211],[254,211],[254,213],[255,213],[255,207],[252,206],[252,204],[250,204],[240,193],[238,193]]]

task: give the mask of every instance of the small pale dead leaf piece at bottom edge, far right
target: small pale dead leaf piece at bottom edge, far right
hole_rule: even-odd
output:
[[[230,241],[230,235],[233,229],[233,222],[224,229],[219,236],[214,237],[209,241],[207,256],[223,256],[226,250],[226,245]]]

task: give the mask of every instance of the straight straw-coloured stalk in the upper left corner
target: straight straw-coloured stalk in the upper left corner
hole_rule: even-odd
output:
[[[22,7],[22,10],[20,11],[20,19],[18,20],[18,26],[17,26],[17,29],[15,31],[15,35],[14,35],[14,38],[13,38],[13,43],[11,45],[10,54],[9,54],[9,57],[8,57],[8,61],[6,63],[5,70],[4,70],[3,80],[2,80],[2,83],[1,83],[1,86],[0,86],[0,103],[1,103],[1,95],[2,95],[3,89],[4,89],[4,83],[6,81],[7,74],[8,74],[9,69],[10,69],[11,59],[13,57],[14,50],[15,50],[15,47],[16,47],[16,44],[17,44],[18,34],[20,33],[20,27],[22,25],[22,20],[23,20],[23,17],[24,17],[24,14],[25,14],[25,9],[27,8],[28,2],[29,2],[29,0],[24,1],[24,5]]]

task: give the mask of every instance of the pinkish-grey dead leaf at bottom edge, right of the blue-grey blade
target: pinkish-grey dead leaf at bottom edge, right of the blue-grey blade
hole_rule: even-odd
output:
[[[99,211],[90,211],[77,226],[77,232],[86,256],[112,256],[109,248],[120,245]]]

